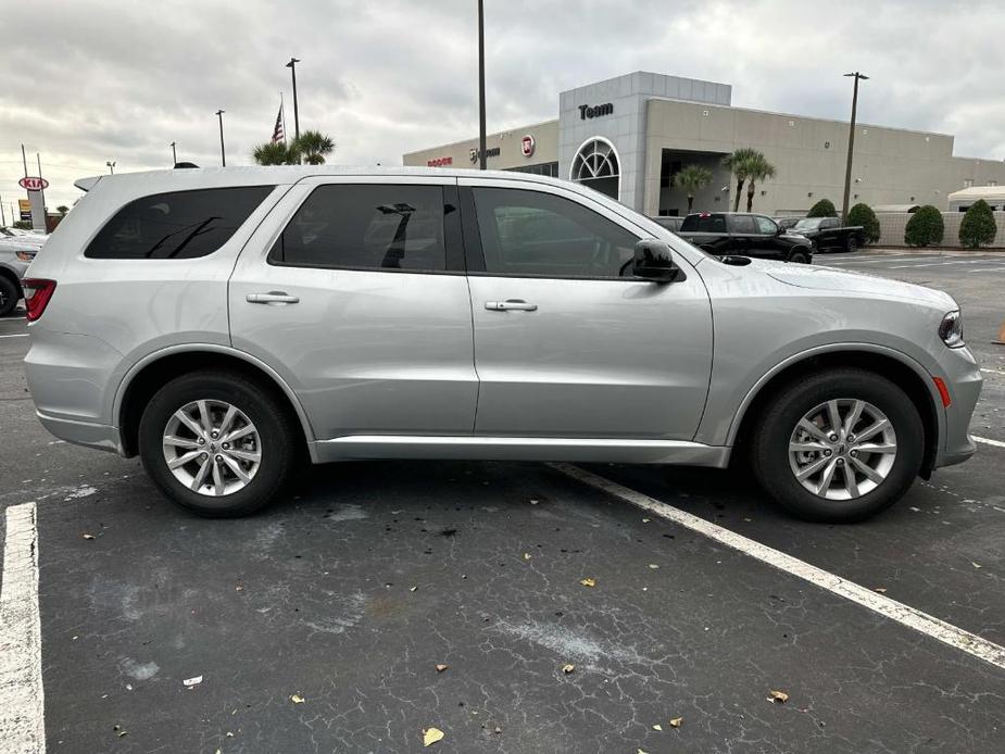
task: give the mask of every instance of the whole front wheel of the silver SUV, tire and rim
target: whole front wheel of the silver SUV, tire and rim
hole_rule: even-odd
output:
[[[802,518],[849,523],[900,500],[921,467],[925,428],[896,385],[863,369],[814,375],[780,390],[761,416],[752,466]]]

